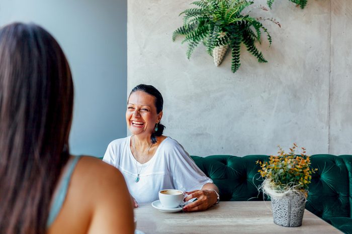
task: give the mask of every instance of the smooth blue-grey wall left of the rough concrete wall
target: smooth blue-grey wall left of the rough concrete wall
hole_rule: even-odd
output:
[[[127,0],[0,0],[0,25],[13,21],[58,40],[75,85],[71,152],[103,156],[126,136]]]

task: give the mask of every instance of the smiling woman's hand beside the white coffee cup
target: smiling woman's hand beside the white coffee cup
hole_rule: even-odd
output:
[[[214,190],[194,190],[191,192],[185,192],[188,196],[185,201],[189,201],[192,198],[197,198],[196,201],[185,205],[184,211],[200,211],[208,209],[210,206],[214,205],[218,201],[218,196]]]

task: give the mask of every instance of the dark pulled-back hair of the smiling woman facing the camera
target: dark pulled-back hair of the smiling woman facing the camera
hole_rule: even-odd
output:
[[[155,107],[156,107],[156,113],[160,113],[160,111],[162,110],[162,105],[164,104],[164,100],[162,99],[162,95],[159,92],[159,90],[157,90],[154,86],[152,85],[147,85],[147,84],[139,84],[136,87],[134,87],[130,93],[130,95],[128,96],[128,99],[130,98],[131,94],[137,91],[142,91],[145,93],[148,93],[152,96],[155,97]],[[157,124],[157,131],[154,131],[151,134],[150,140],[153,144],[155,144],[156,141],[156,137],[159,137],[162,135],[162,132],[164,131],[165,126],[163,126],[162,124],[160,124],[160,122]]]

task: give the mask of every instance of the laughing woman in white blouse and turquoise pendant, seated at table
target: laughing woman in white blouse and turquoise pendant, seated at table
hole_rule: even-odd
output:
[[[126,123],[132,136],[111,142],[103,160],[121,170],[135,207],[158,199],[162,189],[186,192],[185,211],[204,210],[219,201],[218,188],[191,159],[184,148],[163,136],[163,99],[151,85],[134,87],[127,102]]]

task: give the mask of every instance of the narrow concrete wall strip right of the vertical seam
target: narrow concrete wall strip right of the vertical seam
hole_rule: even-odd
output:
[[[331,0],[330,151],[352,150],[352,4]]]

